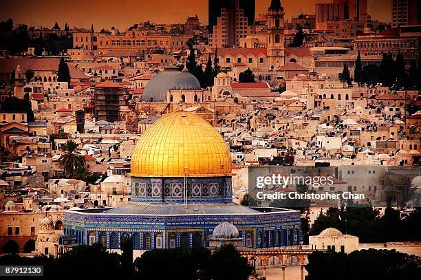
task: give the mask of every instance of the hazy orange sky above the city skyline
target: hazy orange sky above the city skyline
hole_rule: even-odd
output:
[[[211,1],[211,0],[210,0]],[[373,19],[390,21],[391,0],[367,0]],[[281,0],[285,17],[290,19],[300,12],[314,12],[314,3],[328,0]],[[270,0],[256,0],[256,14],[266,12]],[[187,15],[197,14],[207,23],[207,0],[6,0],[1,3],[0,21],[12,17],[14,23],[52,27],[57,21],[63,28],[70,27],[125,30],[133,23],[182,23]]]

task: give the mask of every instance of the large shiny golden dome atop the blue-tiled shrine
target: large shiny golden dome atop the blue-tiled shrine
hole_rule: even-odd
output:
[[[162,116],[145,131],[131,155],[130,176],[215,177],[231,175],[222,136],[195,114]]]

